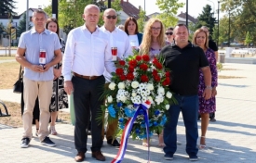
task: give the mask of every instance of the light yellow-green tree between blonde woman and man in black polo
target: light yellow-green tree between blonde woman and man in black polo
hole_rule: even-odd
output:
[[[156,0],[155,5],[162,11],[162,13],[155,18],[161,19],[165,27],[168,28],[178,22],[175,15],[178,9],[184,6],[184,3],[179,3],[179,0]]]

